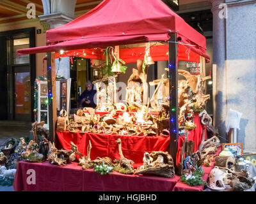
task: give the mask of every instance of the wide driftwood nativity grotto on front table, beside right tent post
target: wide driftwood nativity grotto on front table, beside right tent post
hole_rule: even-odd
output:
[[[140,166],[137,168],[135,175],[139,174],[154,174],[161,177],[171,178],[173,177],[175,171],[173,166],[173,159],[168,152],[151,152],[149,154],[152,157],[153,161],[150,164],[150,167]]]

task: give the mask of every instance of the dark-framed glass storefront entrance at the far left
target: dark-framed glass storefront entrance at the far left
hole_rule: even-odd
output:
[[[16,54],[35,45],[35,29],[0,33],[0,120],[33,119],[35,55]]]

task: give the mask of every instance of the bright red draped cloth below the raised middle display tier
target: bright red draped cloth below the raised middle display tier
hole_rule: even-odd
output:
[[[119,159],[118,138],[122,141],[122,151],[127,159],[131,159],[134,163],[143,163],[145,152],[166,151],[170,143],[170,138],[162,136],[124,136],[124,135],[108,135],[94,133],[71,133],[57,132],[58,149],[70,149],[70,142],[77,145],[79,152],[87,155],[87,146],[89,140],[92,143],[91,159],[96,157],[110,157],[111,159]]]

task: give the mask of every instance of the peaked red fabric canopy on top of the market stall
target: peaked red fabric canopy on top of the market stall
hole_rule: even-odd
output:
[[[168,40],[170,32],[177,33],[179,41],[189,44],[187,46],[193,52],[209,59],[205,54],[205,37],[186,24],[161,0],[104,0],[72,22],[47,31],[49,46],[26,48],[17,52],[58,52],[61,49],[104,48]]]

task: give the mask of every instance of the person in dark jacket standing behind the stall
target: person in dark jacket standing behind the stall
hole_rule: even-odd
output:
[[[79,96],[78,103],[79,107],[91,107],[96,108],[96,104],[93,101],[93,98],[96,94],[96,90],[93,90],[92,82],[86,82],[86,87],[84,92]],[[96,101],[95,101],[96,102]]]

